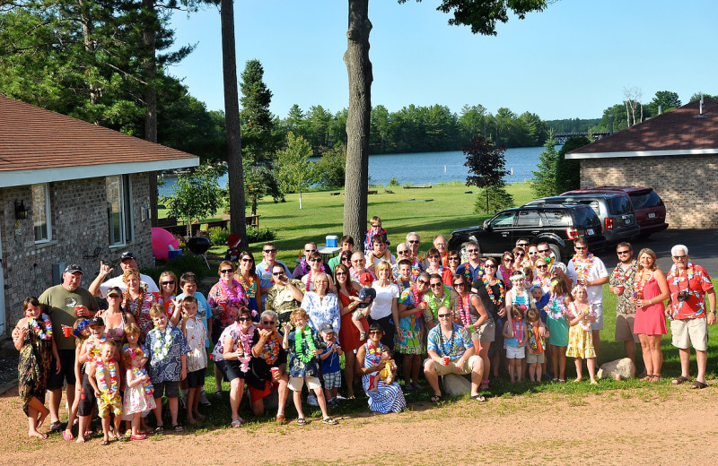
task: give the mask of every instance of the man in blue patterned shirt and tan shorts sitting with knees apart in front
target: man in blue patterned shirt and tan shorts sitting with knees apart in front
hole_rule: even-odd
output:
[[[442,400],[442,391],[439,388],[439,375],[457,374],[471,375],[471,399],[486,401],[478,393],[481,384],[481,375],[484,364],[475,354],[474,342],[464,327],[454,324],[453,315],[449,307],[442,306],[438,311],[439,324],[429,331],[426,352],[429,357],[424,361],[424,376],[431,385],[433,396],[431,400]]]

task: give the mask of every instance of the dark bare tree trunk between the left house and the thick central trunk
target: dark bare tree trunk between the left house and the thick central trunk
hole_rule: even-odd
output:
[[[237,56],[234,49],[234,0],[222,0],[222,68],[224,77],[224,118],[227,125],[227,168],[230,186],[230,233],[248,246],[244,219],[244,180],[241,168],[240,97],[237,87]]]

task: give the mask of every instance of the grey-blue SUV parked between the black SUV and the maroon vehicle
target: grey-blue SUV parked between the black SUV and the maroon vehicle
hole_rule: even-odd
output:
[[[541,203],[586,204],[599,214],[603,225],[603,236],[610,244],[632,241],[641,234],[641,228],[635,222],[635,212],[628,195],[613,194],[565,194],[554,197],[534,199],[526,205]]]

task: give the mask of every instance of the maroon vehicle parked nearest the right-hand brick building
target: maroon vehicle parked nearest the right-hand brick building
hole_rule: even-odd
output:
[[[625,193],[634,206],[635,222],[641,228],[641,237],[649,237],[668,229],[666,206],[652,187],[645,186],[596,186],[566,191],[564,194]],[[561,195],[564,195],[561,194]]]

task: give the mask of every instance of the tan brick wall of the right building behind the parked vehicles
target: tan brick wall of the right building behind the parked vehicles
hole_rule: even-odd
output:
[[[718,154],[581,160],[581,187],[650,186],[672,229],[718,228]]]

